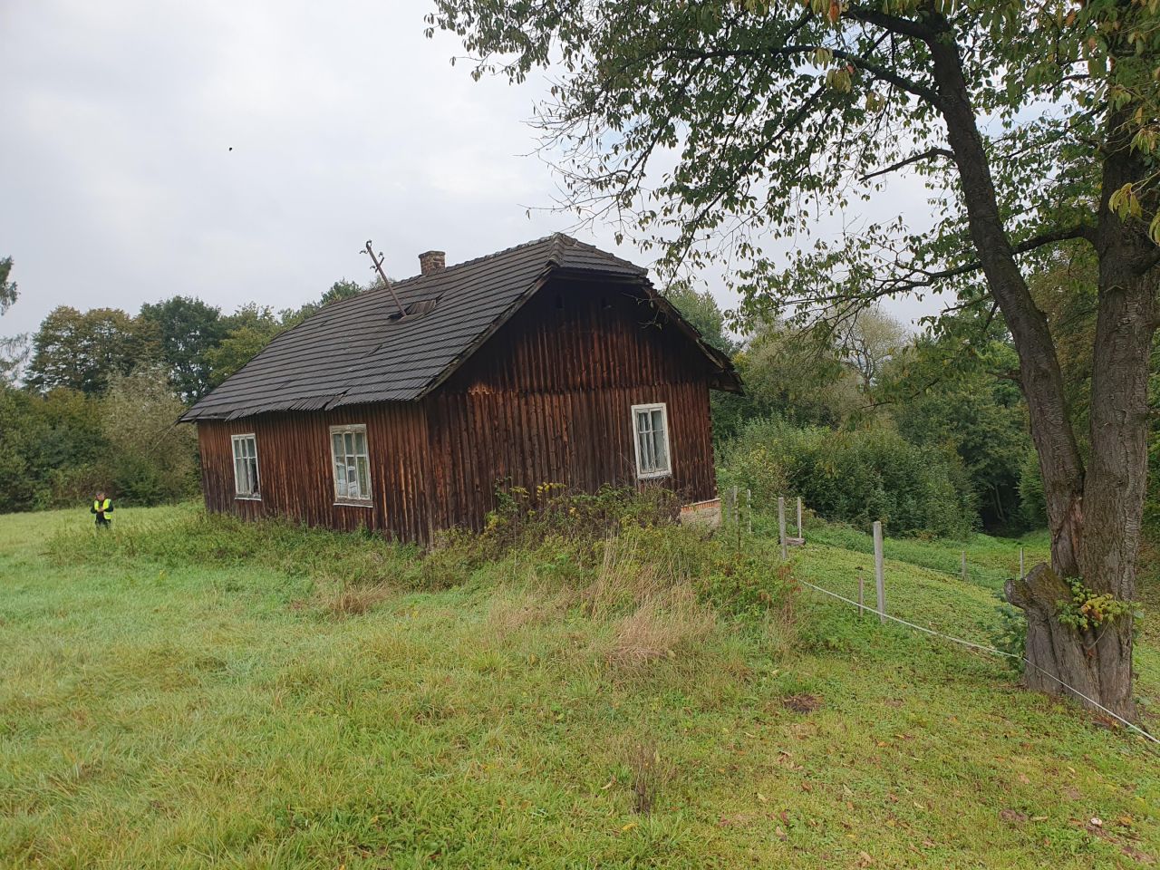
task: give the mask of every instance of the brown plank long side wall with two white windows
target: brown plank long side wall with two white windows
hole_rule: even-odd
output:
[[[372,505],[335,505],[329,427],[367,426]],[[233,435],[254,433],[261,501],[234,496]],[[365,525],[406,541],[427,541],[432,515],[427,420],[415,403],[379,403],[332,412],[260,414],[197,425],[202,490],[210,510],[289,516],[310,525]]]

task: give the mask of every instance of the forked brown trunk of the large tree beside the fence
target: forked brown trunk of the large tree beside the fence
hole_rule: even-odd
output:
[[[1121,601],[1134,595],[1147,470],[1147,376],[1155,331],[1155,246],[1143,227],[1129,226],[1108,197],[1146,167],[1125,142],[1124,118],[1109,118],[1103,152],[1103,202],[1092,241],[1100,258],[1100,302],[1092,377],[1092,462],[1085,470],[1067,413],[1063,376],[1046,319],[1031,298],[999,213],[991,168],[962,60],[945,20],[929,41],[934,75],[966,205],[967,224],[988,287],[1020,357],[1031,436],[1039,457],[1051,529],[1052,566],[1038,565],[1007,585],[1024,610],[1029,688],[1082,693],[1125,719],[1132,701],[1132,621],[1119,616],[1089,631],[1059,622],[1071,597],[1066,578]],[[1087,703],[1086,699],[1082,699]]]

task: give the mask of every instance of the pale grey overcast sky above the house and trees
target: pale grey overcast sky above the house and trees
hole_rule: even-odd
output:
[[[538,210],[541,85],[473,82],[452,37],[423,36],[429,7],[0,0],[0,256],[21,291],[0,333],[176,293],[297,306],[367,281],[367,239],[406,277],[430,248],[454,263],[570,230]],[[612,227],[577,234],[617,251]]]

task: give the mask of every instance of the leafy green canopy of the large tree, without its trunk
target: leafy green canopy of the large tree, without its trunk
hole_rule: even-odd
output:
[[[834,299],[986,297],[931,99],[937,44],[960,58],[1013,244],[1092,220],[1121,132],[1146,167],[1116,208],[1152,227],[1157,2],[438,0],[433,23],[464,38],[478,71],[519,80],[550,67],[536,124],[567,206],[659,251],[666,276],[728,256],[744,320]],[[876,198],[902,173],[928,191],[921,232]],[[865,202],[883,219],[860,220]]]

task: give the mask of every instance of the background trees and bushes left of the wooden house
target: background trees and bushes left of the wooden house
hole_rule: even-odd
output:
[[[0,314],[19,297],[12,267],[0,260]],[[223,314],[183,296],[136,314],[60,306],[31,335],[0,340],[0,510],[77,505],[102,488],[137,505],[196,493],[196,434],[177,416],[280,332],[364,289],[339,281],[277,312]]]

